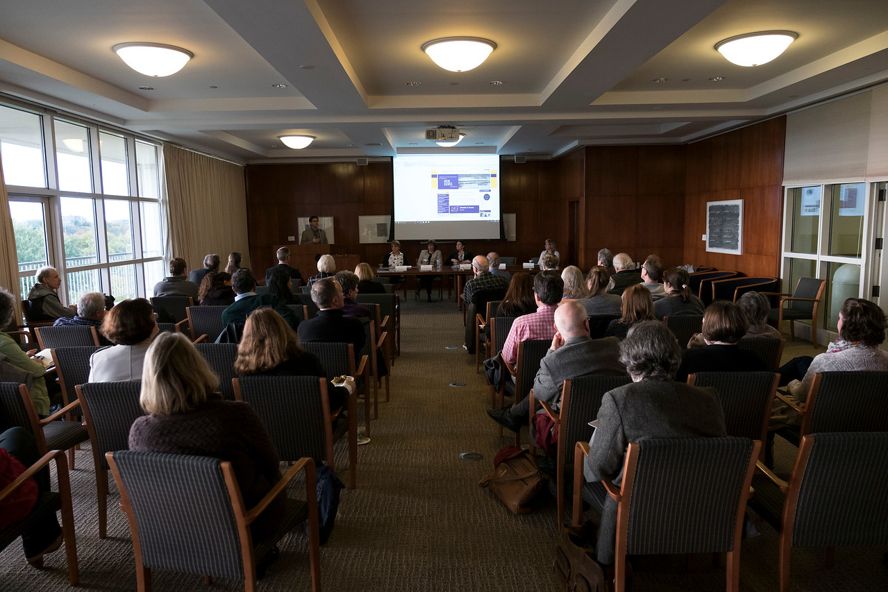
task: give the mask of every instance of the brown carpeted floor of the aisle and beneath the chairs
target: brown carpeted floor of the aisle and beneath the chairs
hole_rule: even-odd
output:
[[[321,582],[326,590],[497,591],[554,590],[551,557],[556,541],[554,504],[514,516],[480,478],[493,455],[511,443],[498,437],[485,414],[487,383],[475,374],[474,356],[463,343],[462,314],[452,302],[403,303],[401,356],[392,369],[392,400],[380,405],[372,441],[358,450],[358,487],[345,490],[336,528],[321,549]],[[447,349],[454,347],[456,349]],[[821,348],[822,350],[822,348]],[[788,343],[784,359],[813,355],[810,343]],[[450,384],[464,386],[450,386]],[[362,416],[362,414],[359,414]],[[525,435],[524,438],[527,441]],[[792,449],[775,451],[778,470],[788,473]],[[460,454],[479,453],[480,462]],[[116,508],[112,483],[109,537],[98,538],[95,478],[91,452],[76,453],[71,471],[81,588],[135,589],[129,528]],[[337,443],[340,475],[347,470],[346,449]],[[297,494],[297,493],[296,493]],[[741,589],[777,588],[776,533],[743,542]],[[794,590],[874,590],[888,588],[883,564],[886,549],[836,549],[836,566],[823,566],[821,549],[793,551]],[[724,567],[710,556],[638,557],[636,590],[723,590]],[[155,590],[236,590],[242,583],[200,576],[155,572]],[[48,556],[37,572],[13,544],[0,553],[0,590],[67,588],[64,552]],[[310,589],[305,537],[290,535],[281,557],[259,582],[262,590]]]

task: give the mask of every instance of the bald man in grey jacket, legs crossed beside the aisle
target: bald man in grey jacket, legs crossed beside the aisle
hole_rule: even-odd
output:
[[[626,367],[620,361],[620,340],[616,337],[592,339],[589,320],[583,304],[567,300],[555,311],[555,336],[549,351],[540,360],[540,369],[534,380],[534,398],[544,401],[553,410],[561,407],[561,388],[567,378],[585,375],[625,375]],[[530,396],[520,403],[488,409],[488,415],[512,431],[527,425]],[[545,413],[540,408],[537,413]]]

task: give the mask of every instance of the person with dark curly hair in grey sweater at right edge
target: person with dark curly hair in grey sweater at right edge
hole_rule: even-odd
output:
[[[847,372],[853,370],[888,370],[888,352],[879,349],[885,340],[885,315],[878,304],[863,298],[848,298],[838,312],[838,336],[829,343],[827,351],[810,359],[804,376],[789,382],[789,399],[804,405],[818,372]],[[804,367],[803,360],[792,359],[781,367],[781,376],[791,376],[789,370]],[[802,376],[801,373],[796,375]],[[786,425],[801,425],[801,418],[779,399],[774,399],[771,430]]]

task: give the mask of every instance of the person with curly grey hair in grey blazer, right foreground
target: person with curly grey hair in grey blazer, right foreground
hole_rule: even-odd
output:
[[[620,344],[620,360],[633,382],[605,393],[601,401],[583,471],[587,481],[621,485],[631,442],[725,436],[725,413],[715,389],[673,381],[681,350],[662,322],[634,326]],[[617,504],[607,493],[603,498],[596,554],[600,564],[613,564]]]

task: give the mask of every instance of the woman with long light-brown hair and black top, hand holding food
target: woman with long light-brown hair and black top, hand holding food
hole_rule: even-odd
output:
[[[299,347],[299,338],[280,314],[259,308],[247,317],[241,343],[237,345],[234,372],[238,375],[318,376],[327,375],[321,360]],[[343,386],[328,381],[330,410],[344,407],[354,392],[354,379]]]

